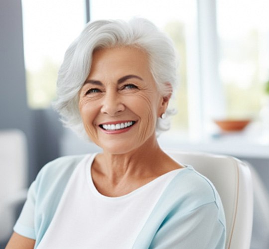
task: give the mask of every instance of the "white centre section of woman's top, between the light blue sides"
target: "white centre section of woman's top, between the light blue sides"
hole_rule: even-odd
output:
[[[87,156],[77,165],[38,249],[132,248],[163,190],[181,170],[170,171],[127,195],[107,197],[92,181],[93,159],[94,155]]]

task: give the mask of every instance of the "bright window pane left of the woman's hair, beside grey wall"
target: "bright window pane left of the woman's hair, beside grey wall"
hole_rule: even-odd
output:
[[[85,0],[22,0],[26,87],[30,108],[47,108],[68,45],[86,23]]]

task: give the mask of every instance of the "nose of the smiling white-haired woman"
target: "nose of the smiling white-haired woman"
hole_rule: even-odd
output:
[[[103,97],[101,112],[110,116],[118,115],[125,110],[120,94],[114,91],[107,91]]]

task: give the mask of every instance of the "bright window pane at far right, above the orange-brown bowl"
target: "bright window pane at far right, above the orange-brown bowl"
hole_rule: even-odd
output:
[[[218,0],[220,78],[228,118],[258,118],[269,80],[269,1]]]

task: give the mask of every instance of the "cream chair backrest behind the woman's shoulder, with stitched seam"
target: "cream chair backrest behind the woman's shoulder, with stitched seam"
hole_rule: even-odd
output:
[[[217,189],[226,217],[226,249],[249,249],[253,224],[253,185],[249,167],[232,156],[166,151],[181,164],[192,165]]]

